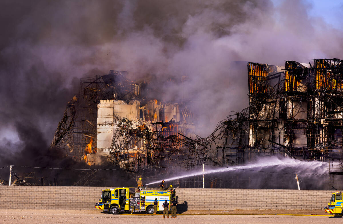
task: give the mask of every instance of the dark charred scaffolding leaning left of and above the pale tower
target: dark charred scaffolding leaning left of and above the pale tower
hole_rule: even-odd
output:
[[[141,85],[126,80],[126,73],[111,70],[108,75],[80,79],[79,94],[67,103],[50,147],[63,150],[76,161],[85,161],[87,153],[95,152],[97,104],[102,99],[130,100]]]

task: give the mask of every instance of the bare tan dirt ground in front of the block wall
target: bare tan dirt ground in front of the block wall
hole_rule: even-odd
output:
[[[247,215],[249,214],[249,215]],[[293,215],[285,215],[293,214]],[[169,215],[169,217],[171,217]],[[94,223],[341,223],[341,217],[328,216],[323,210],[233,210],[233,211],[187,211],[177,219],[164,219],[162,214],[136,213],[111,215],[99,210],[46,210],[46,209],[0,209],[0,223],[23,224],[94,224]]]

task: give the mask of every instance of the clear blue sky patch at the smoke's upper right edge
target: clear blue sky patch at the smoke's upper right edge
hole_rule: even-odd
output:
[[[282,0],[272,0],[275,5]],[[314,17],[321,17],[336,29],[343,29],[343,1],[342,0],[305,0],[312,5],[308,14]]]

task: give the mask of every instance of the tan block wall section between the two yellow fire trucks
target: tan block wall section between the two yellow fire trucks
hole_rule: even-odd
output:
[[[188,210],[323,209],[333,191],[264,189],[176,189]]]

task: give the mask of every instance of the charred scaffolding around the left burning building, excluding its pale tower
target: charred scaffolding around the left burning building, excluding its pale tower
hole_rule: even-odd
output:
[[[182,78],[184,81],[185,78]],[[65,155],[76,161],[86,161],[86,155],[96,153],[97,150],[94,143],[97,142],[100,101],[157,104],[156,99],[147,98],[152,91],[153,88],[145,80],[134,82],[127,79],[126,71],[110,70],[108,75],[81,79],[79,94],[68,102],[51,147],[63,150]],[[156,122],[156,113],[162,113],[161,110],[142,109],[142,119],[137,121],[115,115],[118,122],[113,132],[107,161],[132,173],[155,168],[166,170],[167,167],[175,165],[173,161],[182,161],[182,135],[186,136],[188,131],[192,130],[193,114],[182,102],[175,104],[175,107],[180,108],[180,122],[173,119]],[[164,117],[164,114],[159,115]]]

